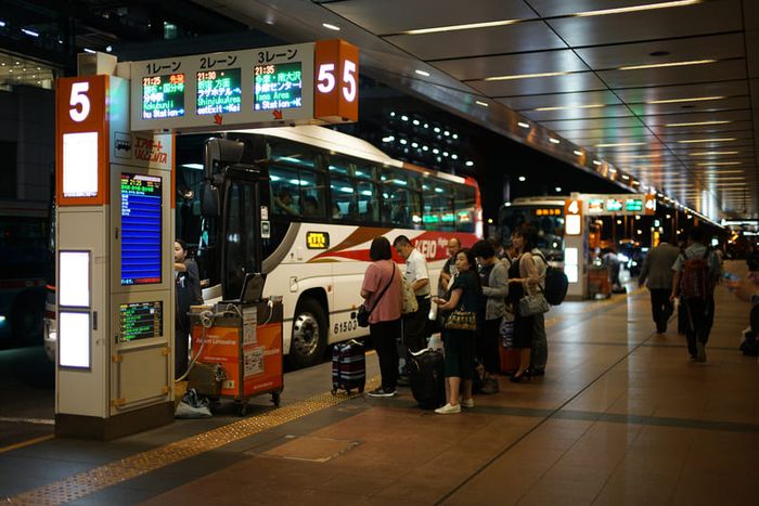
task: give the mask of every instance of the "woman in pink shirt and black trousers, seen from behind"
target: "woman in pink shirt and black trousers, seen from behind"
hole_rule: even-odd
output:
[[[369,392],[371,397],[393,397],[398,381],[398,348],[402,309],[401,272],[391,260],[390,242],[380,236],[369,248],[372,263],[366,268],[361,297],[369,315],[369,333],[380,358],[382,386]]]

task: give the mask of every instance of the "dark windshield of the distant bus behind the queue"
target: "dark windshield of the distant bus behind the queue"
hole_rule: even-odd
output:
[[[499,230],[506,242],[515,230],[529,224],[538,231],[538,248],[549,260],[564,260],[564,205],[504,205],[499,212]]]

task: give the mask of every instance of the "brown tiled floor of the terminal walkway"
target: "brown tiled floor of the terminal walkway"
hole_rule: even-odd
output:
[[[355,399],[79,503],[756,505],[759,364],[737,351],[748,309],[718,288],[695,364],[674,322],[654,334],[645,290],[566,303],[550,313],[546,376],[502,380],[461,415],[421,411],[408,390]],[[327,377],[324,364],[288,379],[305,399]]]

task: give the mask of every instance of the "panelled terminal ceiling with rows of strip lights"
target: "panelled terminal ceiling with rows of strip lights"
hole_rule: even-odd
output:
[[[362,73],[631,191],[759,217],[756,1],[195,1],[346,39]]]

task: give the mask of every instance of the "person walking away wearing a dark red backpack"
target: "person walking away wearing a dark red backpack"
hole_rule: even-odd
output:
[[[670,301],[680,291],[680,309],[686,312],[685,338],[691,359],[706,362],[706,343],[715,322],[715,286],[720,276],[719,259],[704,245],[705,230],[692,229],[687,234],[687,247],[672,265],[674,278]]]

